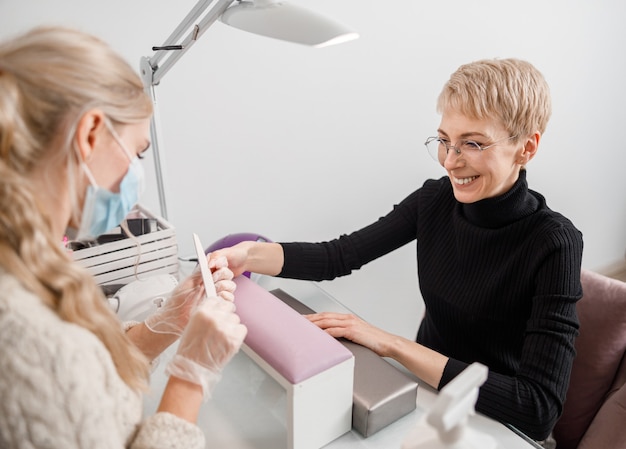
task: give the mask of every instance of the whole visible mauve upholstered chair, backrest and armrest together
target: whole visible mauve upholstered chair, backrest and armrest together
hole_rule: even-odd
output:
[[[626,448],[626,282],[583,269],[580,335],[558,449]]]

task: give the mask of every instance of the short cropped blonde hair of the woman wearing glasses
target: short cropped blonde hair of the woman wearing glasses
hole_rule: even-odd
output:
[[[456,110],[475,119],[500,120],[511,136],[545,132],[552,114],[550,88],[532,64],[483,59],[464,64],[444,85],[437,111]]]

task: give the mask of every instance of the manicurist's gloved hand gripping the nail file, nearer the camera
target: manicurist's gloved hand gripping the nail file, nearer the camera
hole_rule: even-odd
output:
[[[191,316],[176,355],[165,372],[200,385],[206,401],[221,379],[222,370],[239,351],[247,332],[235,313],[234,303],[208,298]]]

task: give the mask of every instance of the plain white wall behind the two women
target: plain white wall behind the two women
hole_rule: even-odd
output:
[[[330,239],[387,213],[443,173],[423,142],[439,123],[435,98],[450,73],[479,58],[519,57],[542,70],[554,102],[529,165],[531,187],[584,233],[586,267],[624,257],[626,4],[293,1],[361,38],[310,49],[217,23],[158,88],[169,219],[182,255],[194,231],[206,244],[241,231]],[[76,26],[138,66],[194,4],[0,0],[0,38],[41,23]],[[158,210],[154,188],[143,203]],[[422,310],[414,249],[325,288],[364,318],[413,336]]]

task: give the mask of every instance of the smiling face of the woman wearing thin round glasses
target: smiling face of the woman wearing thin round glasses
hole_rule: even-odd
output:
[[[474,119],[446,109],[438,129],[440,139],[449,145],[461,146],[474,141],[484,151],[448,151],[441,161],[448,172],[454,196],[461,203],[474,203],[509,191],[519,177],[521,168],[535,155],[539,133],[529,137],[510,136],[499,121]]]

